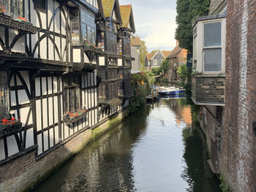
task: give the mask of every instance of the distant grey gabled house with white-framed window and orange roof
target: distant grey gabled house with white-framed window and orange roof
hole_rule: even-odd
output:
[[[153,50],[151,53],[148,53],[145,58],[145,68],[151,69],[154,67],[161,66],[162,62],[165,61],[171,51],[168,50]]]

